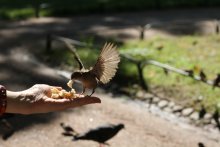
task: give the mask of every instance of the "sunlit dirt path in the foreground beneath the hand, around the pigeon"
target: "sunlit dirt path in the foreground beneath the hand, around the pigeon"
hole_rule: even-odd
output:
[[[25,127],[9,138],[0,140],[4,147],[97,147],[92,141],[71,141],[71,138],[61,135],[61,122],[72,126],[78,132],[87,131],[107,123],[123,123],[124,130],[109,141],[112,147],[198,147],[202,142],[206,147],[219,147],[220,135],[204,132],[199,128],[185,125],[184,128],[172,124],[146,111],[146,106],[124,99],[115,99],[106,94],[97,94],[102,98],[102,104],[95,104],[64,112],[31,116],[41,122],[32,120],[32,126]],[[44,122],[51,119],[48,123]],[[19,123],[27,118],[17,118]],[[21,127],[21,124],[17,124]]]

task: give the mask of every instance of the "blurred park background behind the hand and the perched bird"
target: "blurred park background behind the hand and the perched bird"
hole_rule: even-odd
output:
[[[78,64],[64,41],[87,68],[105,42],[121,55],[116,76],[96,90],[102,104],[6,114],[0,146],[98,146],[73,138],[118,124],[124,129],[106,140],[111,146],[219,146],[219,7],[218,0],[0,0],[0,83],[8,90],[67,89]]]

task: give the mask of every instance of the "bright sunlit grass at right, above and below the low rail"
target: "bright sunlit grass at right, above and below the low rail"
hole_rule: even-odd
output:
[[[128,42],[120,49],[123,53],[132,54],[143,59],[153,59],[180,69],[193,69],[197,66],[203,69],[209,80],[213,80],[220,73],[220,37],[211,36],[183,36],[178,38],[154,37],[146,41]],[[126,73],[125,73],[126,74]],[[194,81],[177,73],[165,75],[163,69],[147,65],[144,76],[151,91],[186,105],[193,105],[198,97],[204,98],[204,105],[213,109],[220,103],[220,89]]]

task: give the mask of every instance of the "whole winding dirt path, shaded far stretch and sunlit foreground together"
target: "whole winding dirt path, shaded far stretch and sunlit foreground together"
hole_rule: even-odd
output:
[[[199,15],[198,15],[199,14]],[[219,10],[164,11],[112,15],[93,15],[74,18],[40,18],[18,22],[0,22],[0,80],[10,90],[21,90],[36,83],[65,85],[59,77],[42,63],[36,55],[44,51],[45,35],[61,34],[73,38],[95,35],[105,40],[116,37],[127,41],[137,39],[138,26],[153,23],[155,27],[147,36],[155,33],[180,35],[186,28],[213,33]],[[132,18],[132,19],[131,19]],[[184,23],[183,23],[184,22]],[[173,24],[173,25],[170,25]],[[174,27],[175,26],[175,27]],[[187,27],[180,27],[187,26]],[[208,28],[208,29],[207,29]],[[96,40],[97,41],[97,40]],[[37,58],[37,59],[36,59]],[[205,132],[190,125],[176,125],[149,113],[144,104],[99,94],[102,104],[59,113],[33,116],[16,116],[10,122],[16,128],[7,141],[0,140],[0,147],[42,146],[98,146],[90,141],[72,142],[61,135],[60,122],[66,122],[78,132],[106,123],[124,123],[126,129],[109,141],[111,146],[131,147],[219,147],[219,134]],[[183,127],[184,126],[184,127]],[[0,131],[2,134],[2,132]]]

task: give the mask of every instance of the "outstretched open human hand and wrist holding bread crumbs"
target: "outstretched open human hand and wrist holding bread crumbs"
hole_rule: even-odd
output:
[[[51,88],[53,86],[36,84],[24,91],[8,91],[6,112],[20,114],[47,113],[92,103],[101,103],[101,100],[97,97],[82,95],[82,97],[74,99],[53,99],[51,98]],[[61,87],[56,88],[62,89]]]

